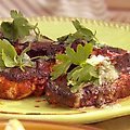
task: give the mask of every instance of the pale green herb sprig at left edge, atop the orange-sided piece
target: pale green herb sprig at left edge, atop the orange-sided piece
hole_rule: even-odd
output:
[[[0,40],[0,69],[6,67],[20,67],[24,70],[25,66],[31,67],[32,62],[26,54],[30,47],[27,47],[21,55],[8,40]]]

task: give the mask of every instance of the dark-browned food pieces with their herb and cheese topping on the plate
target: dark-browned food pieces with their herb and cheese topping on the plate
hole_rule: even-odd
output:
[[[130,53],[99,43],[96,32],[73,21],[76,31],[42,36],[21,12],[1,23],[0,98],[44,96],[55,106],[101,107],[130,95]],[[53,30],[52,30],[53,31]]]

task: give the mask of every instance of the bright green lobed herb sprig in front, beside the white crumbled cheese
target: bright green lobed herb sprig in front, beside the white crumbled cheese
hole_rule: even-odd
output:
[[[53,72],[51,74],[52,80],[55,80],[60,76],[67,75],[69,84],[75,88],[80,86],[82,82],[98,79],[99,75],[96,68],[87,63],[92,50],[92,43],[87,43],[84,47],[78,44],[76,52],[70,47],[67,47],[65,54],[56,55],[58,64],[53,67]],[[73,64],[76,65],[76,67],[68,72]]]

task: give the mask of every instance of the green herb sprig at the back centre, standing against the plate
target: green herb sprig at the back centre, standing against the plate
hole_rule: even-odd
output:
[[[75,40],[81,39],[87,42],[91,42],[92,44],[95,44],[96,42],[95,34],[93,34],[90,29],[86,28],[84,26],[80,25],[78,20],[73,21],[73,25],[76,28],[76,32],[62,36],[57,38],[57,41],[70,44]]]

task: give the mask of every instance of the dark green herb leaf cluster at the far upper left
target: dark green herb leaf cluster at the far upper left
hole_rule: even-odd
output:
[[[35,31],[37,27],[30,25],[27,18],[25,18],[21,12],[12,10],[11,17],[13,18],[13,22],[1,23],[1,32],[3,34],[4,38],[9,39],[10,41],[16,41],[25,38],[25,36],[28,36],[31,30]]]

